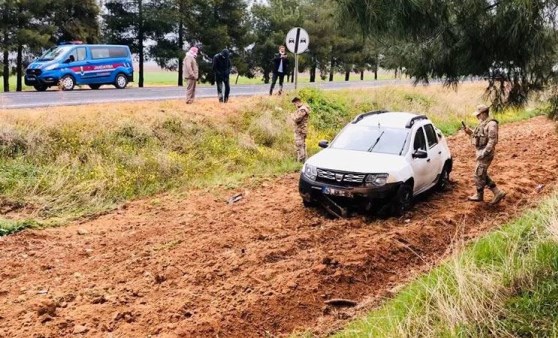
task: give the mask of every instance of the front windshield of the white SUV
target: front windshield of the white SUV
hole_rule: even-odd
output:
[[[401,155],[408,129],[349,125],[337,135],[331,148]]]

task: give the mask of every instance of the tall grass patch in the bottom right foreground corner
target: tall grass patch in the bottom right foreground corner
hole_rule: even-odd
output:
[[[335,335],[557,337],[558,193]]]

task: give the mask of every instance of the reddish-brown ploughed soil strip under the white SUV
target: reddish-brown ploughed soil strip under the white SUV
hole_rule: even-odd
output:
[[[304,209],[298,176],[239,191],[130,203],[58,229],[0,238],[0,337],[248,337],[324,333],[378,304],[556,186],[558,138],[545,118],[501,128],[490,208],[473,192],[473,149],[450,139],[454,188],[401,219],[329,219]],[[541,184],[545,186],[541,191]],[[343,298],[356,308],[326,306]]]

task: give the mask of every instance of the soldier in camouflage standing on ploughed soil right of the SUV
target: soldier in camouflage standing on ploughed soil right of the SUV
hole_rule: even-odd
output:
[[[484,200],[484,188],[488,187],[494,194],[490,205],[495,205],[506,196],[506,193],[498,189],[496,183],[488,176],[488,167],[494,159],[495,147],[498,143],[498,121],[489,118],[489,108],[485,105],[479,105],[473,115],[480,121],[475,130],[463,125],[463,130],[471,136],[476,148],[477,159],[475,167],[477,193],[470,196],[469,201],[482,202]]]

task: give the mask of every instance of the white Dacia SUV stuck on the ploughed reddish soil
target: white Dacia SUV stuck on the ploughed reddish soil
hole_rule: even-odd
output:
[[[337,216],[376,207],[402,215],[413,196],[449,183],[453,161],[442,132],[424,115],[374,111],[358,115],[302,168],[305,206]]]

